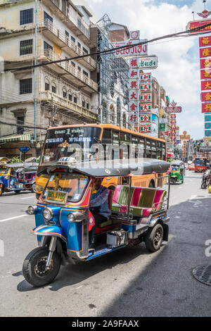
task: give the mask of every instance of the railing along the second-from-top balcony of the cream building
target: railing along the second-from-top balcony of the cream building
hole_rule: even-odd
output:
[[[72,40],[70,39],[70,37],[68,37],[67,35],[65,35],[64,32],[60,31],[58,29],[58,27],[56,27],[56,25],[54,25],[51,20],[46,19],[44,20],[44,26],[53,33],[53,35],[55,35],[56,37],[58,37],[62,42],[64,42],[67,46],[70,47],[70,49],[72,49],[72,51],[75,51],[75,53],[79,56],[82,55],[86,55],[86,53],[84,51],[82,51],[82,49],[80,49],[75,42],[72,42]],[[94,61],[93,58],[91,58],[91,56],[86,56],[84,58],[84,61],[86,61],[87,63],[89,63],[89,65],[91,65],[94,69],[96,68],[96,61]]]

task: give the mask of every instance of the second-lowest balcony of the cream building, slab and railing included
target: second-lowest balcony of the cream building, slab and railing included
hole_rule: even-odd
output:
[[[89,94],[98,92],[98,85],[96,82],[84,75],[81,71],[77,70],[73,65],[68,63],[68,61],[51,63],[51,61],[60,60],[60,58],[51,49],[39,51],[39,60],[41,62],[49,62],[49,68]]]

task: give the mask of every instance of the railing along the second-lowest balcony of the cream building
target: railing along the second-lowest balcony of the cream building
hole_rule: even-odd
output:
[[[57,56],[52,49],[44,49],[39,51],[39,57],[45,56],[46,58],[49,58],[51,61],[60,60],[60,57]],[[94,89],[96,92],[98,91],[98,85],[94,80],[91,80],[89,77],[84,75],[81,71],[77,70],[72,64],[68,63],[68,61],[63,61],[60,63],[56,63],[56,65],[59,65],[64,70],[68,71],[71,75],[76,77],[78,80],[81,80],[85,84],[87,84],[89,87]]]

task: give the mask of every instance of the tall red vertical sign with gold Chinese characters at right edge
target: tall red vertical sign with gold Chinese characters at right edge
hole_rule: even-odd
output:
[[[211,125],[206,115],[211,115],[211,36],[199,37],[201,110],[205,113],[205,137],[211,137]]]

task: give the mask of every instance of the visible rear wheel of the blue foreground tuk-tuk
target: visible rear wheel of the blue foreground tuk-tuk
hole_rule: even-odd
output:
[[[158,251],[162,244],[163,227],[161,224],[156,224],[146,232],[145,245],[148,251]]]

